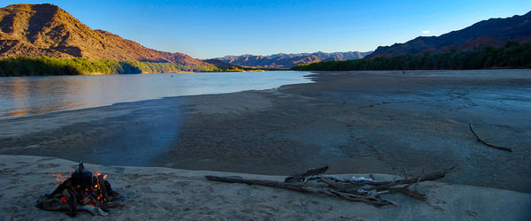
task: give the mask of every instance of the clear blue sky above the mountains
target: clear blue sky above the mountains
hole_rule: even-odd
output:
[[[94,29],[192,57],[367,51],[531,11],[529,0],[139,1],[2,0],[57,4]]]

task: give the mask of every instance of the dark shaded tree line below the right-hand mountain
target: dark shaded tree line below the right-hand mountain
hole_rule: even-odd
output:
[[[471,50],[317,62],[296,65],[291,69],[296,71],[376,71],[529,67],[531,67],[531,44],[519,44],[510,41],[501,48],[481,45]]]

